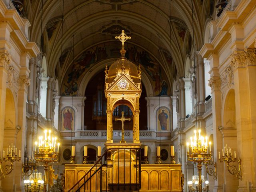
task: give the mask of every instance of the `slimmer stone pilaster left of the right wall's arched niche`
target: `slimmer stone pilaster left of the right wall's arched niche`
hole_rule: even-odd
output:
[[[213,143],[214,143],[214,162],[217,163],[218,171],[217,171],[217,180],[215,181],[213,192],[222,192],[223,191],[223,163],[218,162],[218,152],[222,151],[222,136],[218,127],[221,125],[221,80],[219,76],[219,58],[218,55],[212,54],[209,56],[211,71],[211,78],[209,80],[209,86],[212,89],[212,127],[213,127]]]

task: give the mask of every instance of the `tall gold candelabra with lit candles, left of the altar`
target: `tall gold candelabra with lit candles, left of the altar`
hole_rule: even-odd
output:
[[[49,130],[49,136],[47,137],[47,130],[44,131],[44,140],[43,136],[39,137],[39,144],[38,142],[35,143],[35,160],[37,162],[43,162],[44,163],[44,192],[46,192],[47,188],[47,180],[46,180],[46,172],[48,171],[48,164],[50,162],[56,162],[59,159],[59,146],[58,143],[58,149],[56,151],[56,140],[57,138],[52,137],[51,138],[51,130]],[[38,144],[38,150],[37,150],[37,144]]]

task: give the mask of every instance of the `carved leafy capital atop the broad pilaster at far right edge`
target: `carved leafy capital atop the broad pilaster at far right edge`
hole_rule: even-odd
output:
[[[232,70],[243,68],[247,66],[256,65],[256,48],[245,49],[243,51],[235,51],[231,54],[230,66]]]

